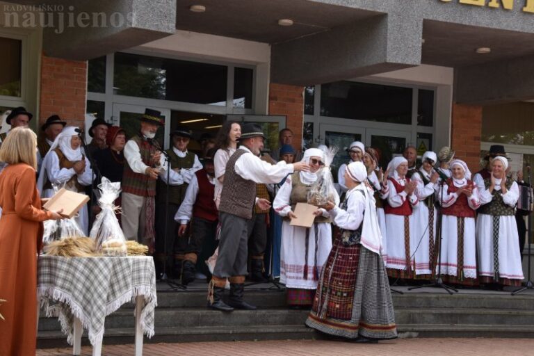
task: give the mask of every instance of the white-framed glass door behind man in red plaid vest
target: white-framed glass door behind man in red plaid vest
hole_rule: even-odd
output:
[[[126,137],[130,138],[139,132],[140,118],[145,113],[145,106],[128,105],[128,104],[113,104],[113,125],[120,126],[126,131]],[[158,129],[156,133],[156,140],[162,147],[169,147],[169,133],[170,133],[170,110],[168,108],[156,108],[149,106],[153,110],[161,112],[165,117],[165,126]]]

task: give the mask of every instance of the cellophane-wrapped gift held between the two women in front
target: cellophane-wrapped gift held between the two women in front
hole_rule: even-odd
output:
[[[330,172],[330,165],[334,161],[334,156],[337,154],[337,147],[330,147],[325,152],[325,165],[317,172],[318,179],[312,184],[308,192],[308,204],[316,207],[325,207],[327,202],[335,202],[336,188],[334,187],[334,179],[332,172]]]

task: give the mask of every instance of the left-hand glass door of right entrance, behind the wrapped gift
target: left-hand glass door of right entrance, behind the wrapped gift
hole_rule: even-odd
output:
[[[338,147],[338,152],[332,162],[332,176],[337,183],[337,170],[343,163],[350,161],[348,147],[354,141],[362,141],[365,136],[365,129],[362,127],[343,126],[334,124],[319,124],[319,139],[327,147]]]

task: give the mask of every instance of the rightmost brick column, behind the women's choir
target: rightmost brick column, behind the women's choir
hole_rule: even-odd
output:
[[[453,104],[451,147],[473,174],[480,170],[481,134],[482,106]]]

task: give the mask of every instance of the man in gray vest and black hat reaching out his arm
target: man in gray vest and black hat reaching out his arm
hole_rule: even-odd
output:
[[[264,133],[257,124],[243,124],[239,147],[230,157],[225,172],[223,193],[220,197],[221,224],[219,256],[208,292],[208,306],[223,312],[237,309],[256,309],[243,301],[243,286],[247,275],[248,222],[252,219],[254,204],[268,209],[270,203],[256,196],[256,184],[275,184],[286,175],[298,170],[309,170],[307,163],[270,165],[259,159],[264,147]],[[228,304],[223,302],[226,280],[230,282]]]

